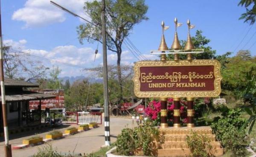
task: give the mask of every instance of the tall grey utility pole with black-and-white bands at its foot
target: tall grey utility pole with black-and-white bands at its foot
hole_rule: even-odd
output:
[[[104,88],[104,116],[105,116],[105,145],[110,145],[109,129],[109,108],[108,108],[108,62],[107,62],[107,45],[106,45],[106,19],[105,19],[105,0],[102,0],[102,46],[103,46],[103,88]]]

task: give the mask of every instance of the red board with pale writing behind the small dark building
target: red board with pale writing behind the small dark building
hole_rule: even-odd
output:
[[[55,109],[62,109],[64,108],[64,90],[34,90],[38,93],[50,94],[55,95],[55,98],[52,99],[44,99],[41,100],[41,109],[45,108],[55,108]],[[39,101],[30,101],[29,102],[29,109],[38,109]]]

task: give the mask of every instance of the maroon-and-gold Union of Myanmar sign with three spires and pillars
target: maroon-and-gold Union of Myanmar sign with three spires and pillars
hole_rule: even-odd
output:
[[[187,21],[189,30],[194,28]],[[162,22],[162,31],[169,27]],[[195,97],[216,97],[221,93],[221,65],[217,60],[195,60],[193,53],[201,53],[201,49],[195,49],[188,33],[187,43],[181,49],[175,18],[175,38],[168,49],[164,34],[158,50],[154,53],[160,55],[160,61],[138,61],[134,65],[134,94],[139,98],[160,98],[161,102],[161,128],[167,124],[167,98],[174,99],[174,127],[180,127],[180,98],[186,98],[187,127],[194,127],[193,100]],[[199,52],[198,52],[199,51]],[[166,53],[169,52],[169,53]],[[174,60],[166,60],[166,54],[174,54]],[[186,60],[180,60],[179,54],[186,54]]]

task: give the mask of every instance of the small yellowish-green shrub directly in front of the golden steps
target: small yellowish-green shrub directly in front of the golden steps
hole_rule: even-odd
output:
[[[214,149],[209,138],[193,132],[192,136],[186,137],[187,144],[193,157],[213,157]]]

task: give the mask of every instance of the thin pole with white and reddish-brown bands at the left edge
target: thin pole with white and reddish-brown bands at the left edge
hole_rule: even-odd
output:
[[[12,157],[12,148],[9,144],[8,126],[7,126],[7,114],[6,114],[6,101],[5,101],[5,88],[4,88],[4,76],[3,76],[3,38],[2,38],[2,22],[1,22],[1,1],[0,1],[0,83],[1,83],[1,96],[2,96],[2,112],[3,112],[3,131],[5,140],[5,156]]]

